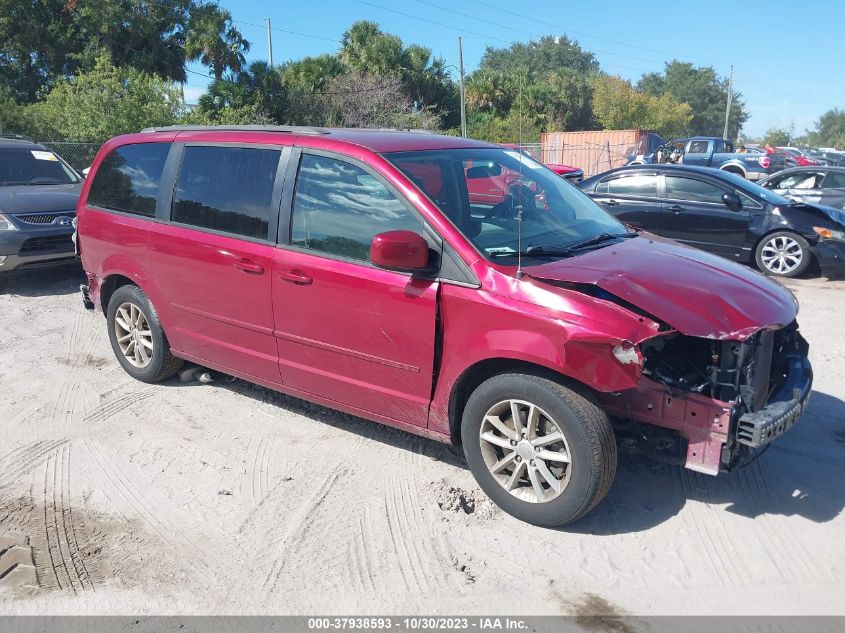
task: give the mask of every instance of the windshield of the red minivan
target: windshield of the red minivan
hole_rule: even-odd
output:
[[[581,191],[516,150],[426,150],[385,158],[488,259],[515,264],[519,250],[565,249],[603,234],[627,233]],[[542,260],[523,261],[536,263]]]

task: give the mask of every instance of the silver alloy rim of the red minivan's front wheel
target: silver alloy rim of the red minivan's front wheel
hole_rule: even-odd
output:
[[[560,426],[540,407],[503,400],[485,414],[479,432],[481,454],[493,478],[529,503],[546,503],[570,480],[569,445]]]

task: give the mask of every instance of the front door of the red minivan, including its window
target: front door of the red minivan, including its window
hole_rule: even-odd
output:
[[[372,238],[423,223],[363,165],[303,153],[273,303],[284,384],[352,410],[425,426],[438,282],[376,268]],[[287,244],[285,244],[287,242]]]

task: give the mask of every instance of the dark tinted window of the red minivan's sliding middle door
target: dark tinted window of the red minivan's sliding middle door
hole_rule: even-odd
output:
[[[186,147],[173,196],[173,221],[268,239],[281,155],[280,150],[255,147]]]

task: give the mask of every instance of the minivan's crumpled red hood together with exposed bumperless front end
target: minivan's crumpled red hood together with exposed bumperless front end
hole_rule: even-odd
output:
[[[636,364],[637,386],[598,394],[625,448],[715,475],[801,416],[813,381],[808,344],[798,304],[777,282],[654,236],[564,262],[531,275],[658,326],[624,356],[614,352]]]

